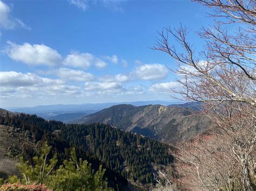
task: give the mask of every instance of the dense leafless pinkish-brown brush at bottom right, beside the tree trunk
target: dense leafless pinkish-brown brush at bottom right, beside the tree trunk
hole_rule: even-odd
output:
[[[192,190],[234,190],[241,188],[240,169],[230,157],[229,139],[220,135],[198,137],[172,152],[178,162],[176,182]]]

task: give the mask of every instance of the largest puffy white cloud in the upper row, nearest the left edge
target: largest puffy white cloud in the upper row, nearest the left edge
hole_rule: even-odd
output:
[[[22,61],[28,65],[47,65],[56,66],[62,61],[62,56],[59,53],[45,45],[31,45],[24,43],[23,45],[17,45],[10,41],[7,42],[4,52],[12,60]]]

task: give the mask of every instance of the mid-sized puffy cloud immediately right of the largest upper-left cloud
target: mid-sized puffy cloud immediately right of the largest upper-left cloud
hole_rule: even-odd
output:
[[[71,66],[75,68],[87,69],[91,65],[95,65],[97,68],[104,68],[107,63],[103,60],[96,58],[90,53],[72,53],[66,56],[64,60],[64,65]]]

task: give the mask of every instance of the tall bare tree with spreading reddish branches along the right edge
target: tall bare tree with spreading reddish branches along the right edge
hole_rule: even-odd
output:
[[[253,190],[256,140],[256,1],[197,0],[196,2],[214,11],[210,16],[215,18],[215,25],[203,27],[198,32],[199,37],[205,40],[205,48],[196,52],[194,46],[187,40],[190,31],[181,25],[179,29],[165,27],[159,32],[159,38],[153,49],[166,52],[178,61],[178,69],[170,69],[183,76],[177,79],[182,89],[172,90],[173,93],[182,95],[185,100],[204,102],[206,115],[221,130],[218,136],[221,135],[220,137],[228,140],[229,148],[226,148],[225,152],[232,157],[232,160],[227,160],[227,164],[230,167],[237,164],[241,169],[239,171],[241,174],[237,175],[241,188]],[[233,25],[236,30],[228,33],[229,25]],[[177,47],[173,45],[174,41],[184,49],[183,52],[177,51]],[[190,154],[193,154],[192,151]],[[199,149],[198,154],[206,153]],[[213,165],[212,163],[211,167]],[[195,165],[194,167],[194,172],[198,171],[199,167]],[[203,170],[203,167],[200,168]],[[191,170],[187,173],[191,173]],[[215,171],[212,173],[214,174]],[[199,176],[198,178],[201,179]],[[219,185],[224,185],[226,189],[231,189],[226,182],[221,184],[215,182],[214,186],[214,179],[215,176],[208,178],[208,181],[202,179],[199,181],[199,186],[204,186],[205,189],[220,189]],[[224,180],[228,182],[229,179]]]

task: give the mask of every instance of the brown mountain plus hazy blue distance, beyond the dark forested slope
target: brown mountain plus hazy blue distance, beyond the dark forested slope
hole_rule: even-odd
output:
[[[48,120],[64,123],[105,123],[118,129],[172,144],[192,139],[211,126],[209,119],[200,114],[202,105],[199,102],[170,104],[165,101],[142,101],[131,103],[39,105],[32,108],[16,108],[12,111],[36,114]],[[146,103],[160,104],[143,105]]]

